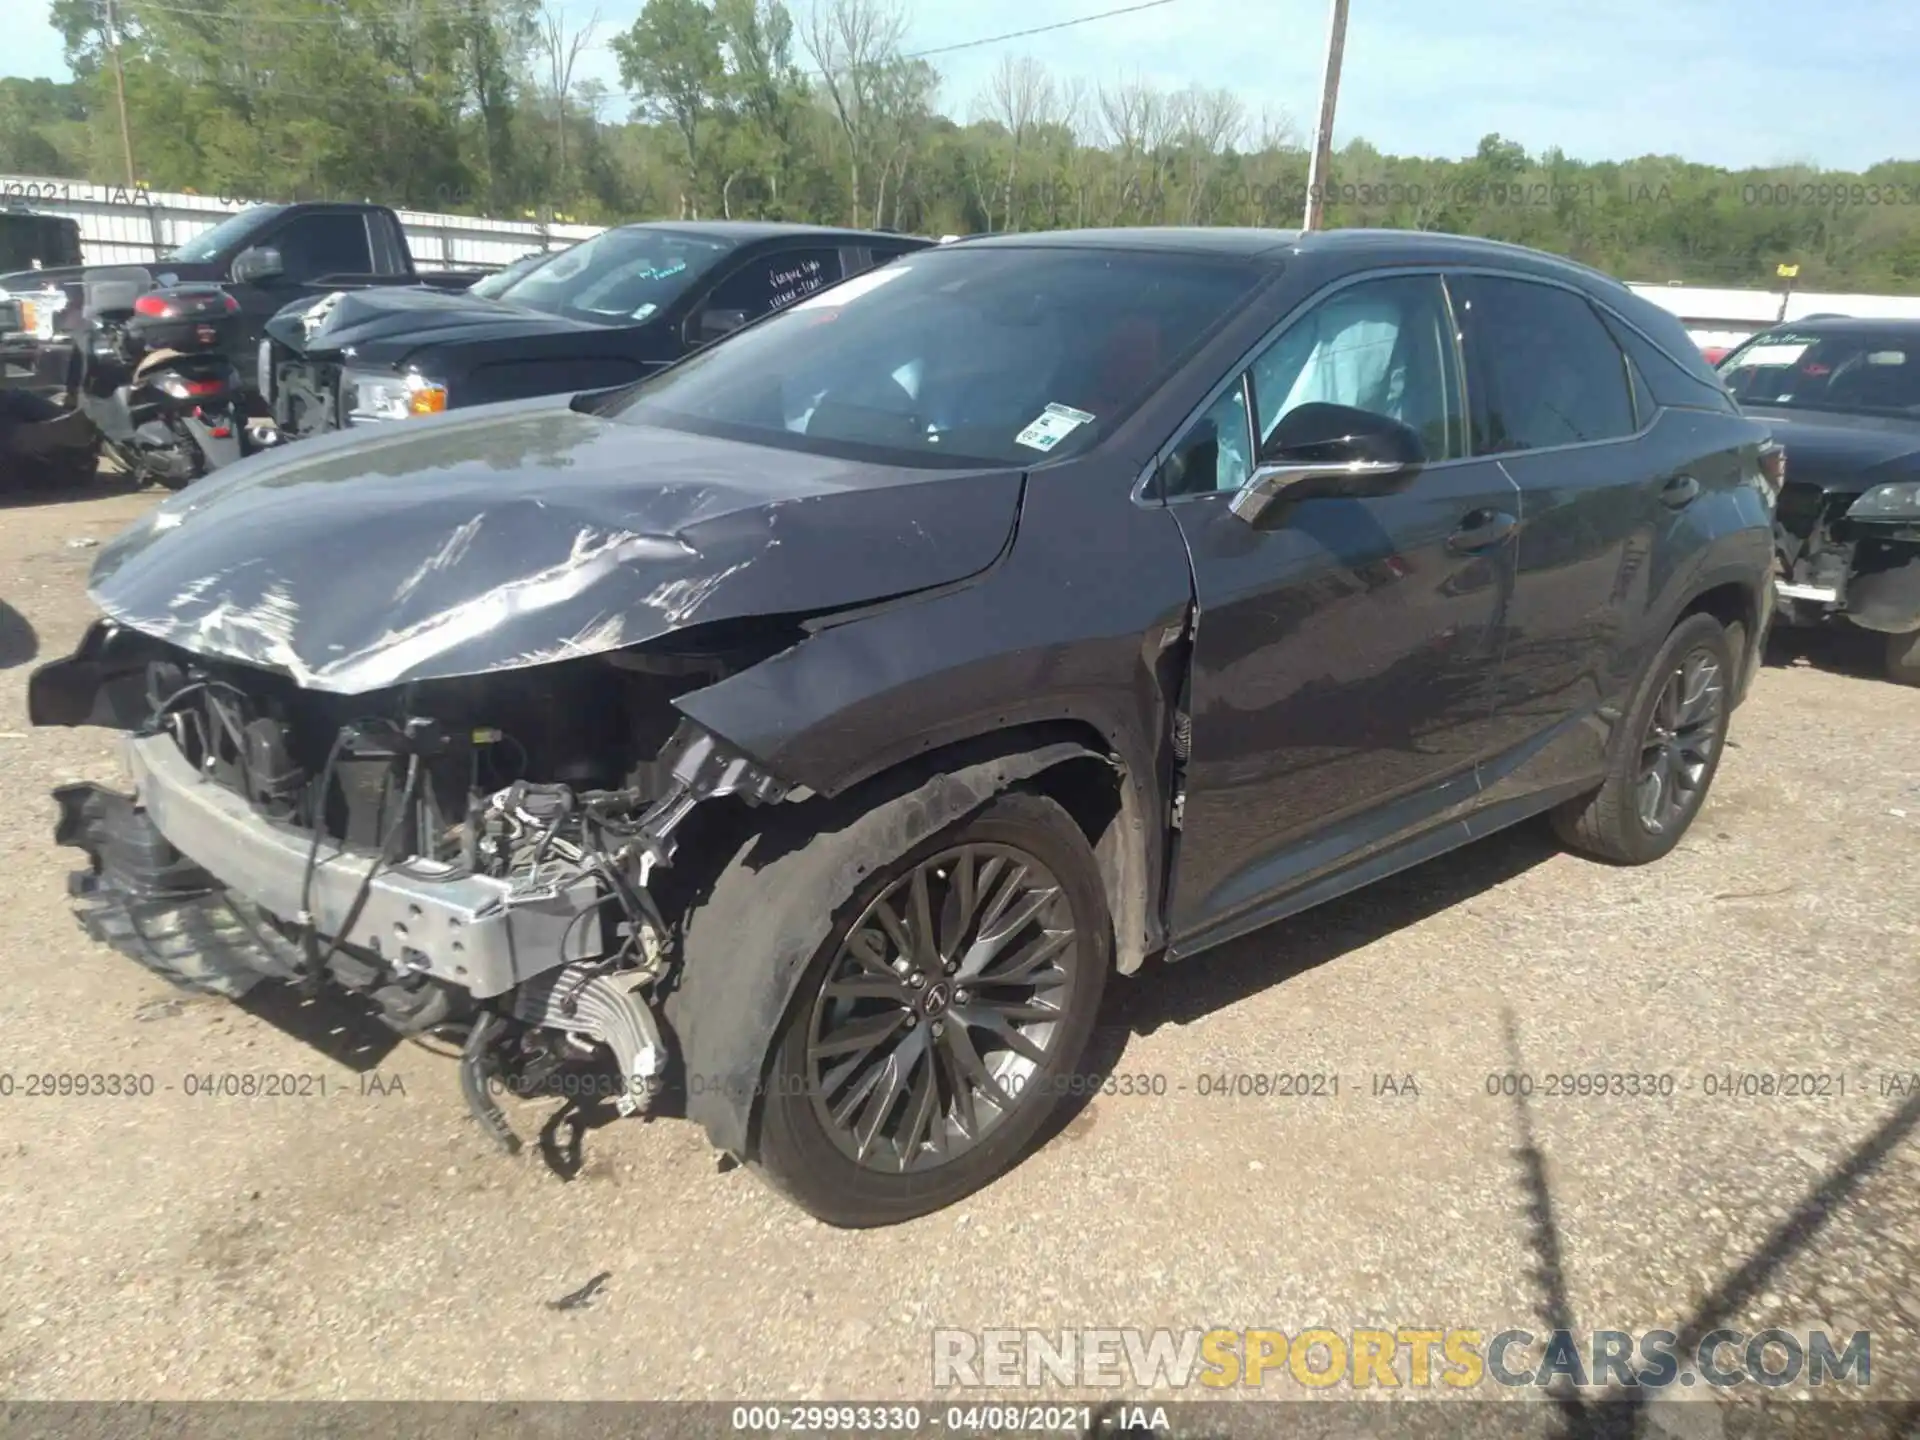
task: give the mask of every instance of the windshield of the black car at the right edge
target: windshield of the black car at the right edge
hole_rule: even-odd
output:
[[[1724,361],[1741,405],[1920,415],[1920,332],[1768,330]]]

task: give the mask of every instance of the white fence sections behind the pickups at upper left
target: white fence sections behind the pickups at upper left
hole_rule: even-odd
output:
[[[150,265],[252,204],[257,202],[46,175],[0,175],[0,205],[23,205],[79,221],[81,253],[88,265]],[[601,230],[597,225],[540,225],[413,209],[399,211],[399,223],[407,230],[415,263],[424,269],[507,265],[530,250],[563,250]]]

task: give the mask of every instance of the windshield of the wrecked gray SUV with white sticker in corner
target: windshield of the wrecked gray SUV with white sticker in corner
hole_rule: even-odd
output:
[[[922,250],[641,382],[612,413],[902,465],[1033,465],[1096,444],[1263,275],[1192,255]]]

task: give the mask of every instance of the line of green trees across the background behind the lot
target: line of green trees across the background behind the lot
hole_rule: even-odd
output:
[[[1008,54],[962,113],[904,0],[115,0],[136,180],[497,217],[789,219],[925,234],[1300,223],[1306,136],[1229,90]],[[71,83],[0,81],[0,173],[125,180],[106,0],[54,0]],[[574,15],[574,19],[568,17]],[[618,90],[582,79],[612,54]],[[1632,280],[1920,290],[1920,161],[1726,171],[1354,140],[1327,225],[1453,230]]]

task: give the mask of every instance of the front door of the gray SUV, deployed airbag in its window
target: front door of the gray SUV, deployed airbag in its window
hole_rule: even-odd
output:
[[[1384,497],[1248,524],[1229,501],[1283,415],[1332,401],[1413,426],[1427,467]],[[1348,284],[1292,321],[1162,468],[1198,595],[1177,948],[1260,924],[1319,876],[1469,808],[1513,588],[1517,488],[1471,459],[1436,275]]]

